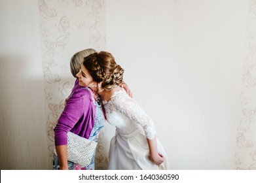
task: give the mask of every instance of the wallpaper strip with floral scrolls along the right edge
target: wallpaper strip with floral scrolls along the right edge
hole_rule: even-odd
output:
[[[236,134],[236,169],[256,170],[256,1],[248,1],[247,50],[242,65],[242,118]]]

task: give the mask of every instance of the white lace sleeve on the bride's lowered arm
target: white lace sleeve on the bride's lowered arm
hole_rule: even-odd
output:
[[[125,92],[122,92],[122,95],[116,95],[111,101],[115,110],[125,114],[131,120],[141,125],[147,139],[153,139],[155,137],[156,130],[153,120],[149,118],[147,113],[144,112],[134,99],[130,98]]]

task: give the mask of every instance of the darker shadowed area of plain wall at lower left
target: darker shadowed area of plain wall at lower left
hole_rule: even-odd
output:
[[[22,56],[0,58],[0,169],[49,167],[43,80],[29,67]]]

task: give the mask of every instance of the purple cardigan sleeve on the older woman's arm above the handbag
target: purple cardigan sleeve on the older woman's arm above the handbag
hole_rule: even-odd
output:
[[[58,119],[56,127],[54,128],[56,146],[67,144],[67,132],[70,131],[75,124],[77,124],[84,110],[88,108],[84,97],[86,96],[79,95],[79,93],[74,93],[67,100],[65,108]]]

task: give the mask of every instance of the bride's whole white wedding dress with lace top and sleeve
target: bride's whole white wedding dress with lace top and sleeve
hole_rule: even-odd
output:
[[[117,127],[109,148],[110,170],[169,169],[162,144],[156,139],[158,152],[164,156],[160,166],[149,160],[147,139],[156,135],[151,118],[124,90],[113,93],[110,101],[103,101],[107,122]]]

